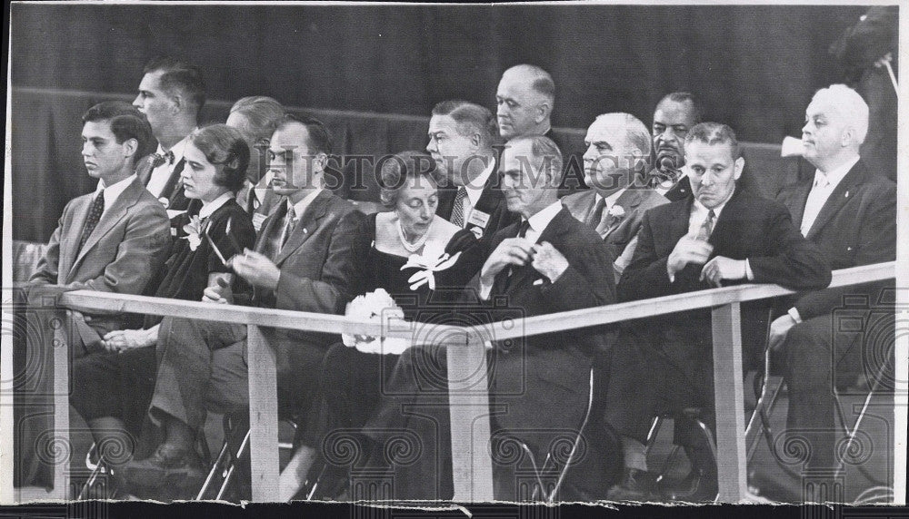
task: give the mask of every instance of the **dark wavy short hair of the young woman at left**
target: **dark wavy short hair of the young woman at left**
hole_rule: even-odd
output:
[[[243,134],[226,124],[211,124],[189,134],[189,142],[215,166],[222,166],[213,181],[236,193],[243,187],[249,167],[249,146]]]

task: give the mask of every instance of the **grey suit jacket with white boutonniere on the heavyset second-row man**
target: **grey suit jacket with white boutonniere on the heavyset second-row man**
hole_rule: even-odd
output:
[[[649,188],[635,189],[634,187],[629,187],[615,201],[616,206],[624,209],[625,215],[621,219],[614,219],[601,236],[613,249],[616,280],[622,275],[634,255],[634,246],[629,250],[626,248],[637,237],[637,231],[641,229],[641,221],[644,220],[644,212],[664,203],[669,203],[669,201],[660,193]],[[575,219],[588,226],[595,229],[599,224],[599,221],[592,220],[595,216],[596,191],[586,190],[570,194],[562,199],[562,205],[571,212]]]

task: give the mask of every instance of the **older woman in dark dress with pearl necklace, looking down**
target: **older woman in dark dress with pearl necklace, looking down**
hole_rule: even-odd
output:
[[[350,284],[350,295],[385,289],[410,321],[431,320],[446,304],[459,299],[485,259],[483,245],[470,230],[435,215],[437,182],[423,171],[421,164],[426,163],[428,157],[422,153],[402,152],[383,164],[381,197],[390,211],[364,219],[353,251],[362,267],[358,269],[359,279]],[[423,260],[416,261],[415,256]],[[436,267],[430,283],[425,274],[428,269],[415,266],[418,262],[445,268]],[[343,343],[329,349],[322,397],[315,400],[317,408],[308,416],[311,419],[299,439],[300,446],[281,474],[281,501],[291,499],[303,485],[309,468],[322,455],[318,451],[325,435],[339,429],[355,431],[365,425],[379,404],[385,377],[398,357],[395,353],[365,353]]]

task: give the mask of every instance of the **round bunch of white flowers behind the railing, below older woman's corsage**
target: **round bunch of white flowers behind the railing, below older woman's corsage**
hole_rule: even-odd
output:
[[[404,322],[404,310],[397,306],[395,299],[385,291],[376,289],[373,292],[357,296],[347,303],[345,316],[357,320],[378,321],[383,329],[398,328]],[[346,347],[356,348],[363,353],[380,353],[401,355],[410,348],[410,341],[405,338],[382,338],[365,335],[341,334]]]

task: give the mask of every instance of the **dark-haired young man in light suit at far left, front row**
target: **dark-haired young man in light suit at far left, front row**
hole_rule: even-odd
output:
[[[54,230],[44,258],[38,261],[29,279],[27,298],[29,308],[45,307],[43,299],[61,289],[87,289],[118,294],[141,294],[161,269],[170,250],[171,238],[167,214],[135,175],[135,165],[155,151],[155,137],[139,113],[129,103],[109,101],[96,104],[82,117],[82,157],[88,174],[98,179],[95,192],[80,196],[66,204],[59,225]],[[73,312],[67,322],[67,338],[74,358],[101,351],[101,338],[112,330],[125,328],[129,318],[122,313],[83,316]],[[35,320],[39,313],[28,312],[29,329],[45,329],[45,322]],[[22,380],[35,380],[16,396],[23,406],[42,405],[39,396],[52,393],[51,380],[40,371],[46,362],[28,362],[28,356],[50,357],[50,329],[44,334],[28,334],[16,342],[16,372]],[[25,348],[25,349],[24,349]],[[36,370],[36,371],[35,371]],[[19,401],[20,398],[17,398]],[[26,402],[26,400],[29,400]],[[34,400],[34,401],[31,401]],[[16,410],[24,408],[17,404]],[[31,425],[29,425],[31,424]],[[50,424],[45,423],[49,429]],[[29,430],[37,430],[36,422],[23,423],[23,436],[35,439]],[[25,437],[19,437],[22,442]],[[25,453],[34,454],[34,445]],[[41,448],[41,447],[38,447]],[[35,485],[35,475],[48,474],[34,457],[17,461],[22,470],[21,485]],[[18,484],[17,484],[18,485]]]

